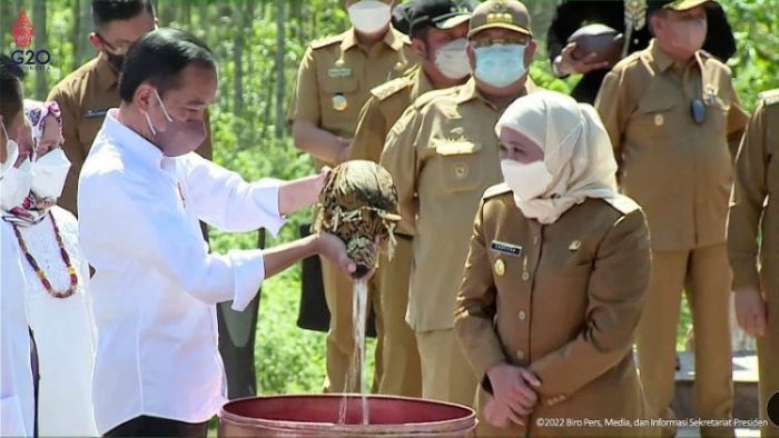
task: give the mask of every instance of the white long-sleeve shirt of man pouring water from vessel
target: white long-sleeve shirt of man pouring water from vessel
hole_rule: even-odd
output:
[[[148,415],[206,421],[226,401],[217,302],[243,310],[263,282],[259,250],[208,253],[198,219],[274,235],[278,181],[247,183],[195,153],[169,158],[106,116],[79,178],[92,278],[98,431]]]

